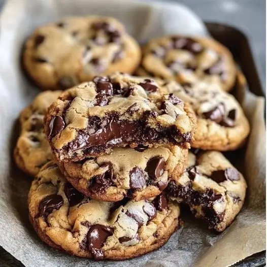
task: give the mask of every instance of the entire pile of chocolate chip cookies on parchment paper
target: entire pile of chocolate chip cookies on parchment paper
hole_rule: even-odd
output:
[[[26,42],[25,70],[46,91],[20,115],[14,157],[35,177],[29,218],[51,247],[136,257],[169,240],[180,203],[219,232],[242,208],[246,182],[219,152],[249,133],[226,92],[230,53],[181,36],[142,52],[117,20],[97,16],[40,27]]]

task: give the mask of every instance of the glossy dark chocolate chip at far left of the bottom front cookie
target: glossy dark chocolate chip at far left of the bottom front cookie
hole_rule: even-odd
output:
[[[61,195],[47,195],[39,204],[40,216],[47,217],[53,210],[59,210],[63,204],[64,201]]]

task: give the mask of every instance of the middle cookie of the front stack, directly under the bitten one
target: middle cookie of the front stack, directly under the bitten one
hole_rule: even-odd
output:
[[[109,155],[76,162],[57,162],[66,179],[80,192],[102,201],[119,201],[127,196],[136,201],[156,196],[171,176],[180,176],[187,163],[188,149],[114,148]]]

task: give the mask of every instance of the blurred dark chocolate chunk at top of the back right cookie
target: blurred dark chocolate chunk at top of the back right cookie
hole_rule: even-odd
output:
[[[203,51],[203,46],[193,40],[192,38],[185,38],[185,37],[173,37],[173,47],[175,49],[184,49],[193,54],[198,54]]]

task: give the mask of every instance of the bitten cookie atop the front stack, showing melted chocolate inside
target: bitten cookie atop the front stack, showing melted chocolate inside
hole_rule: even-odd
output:
[[[44,125],[57,160],[78,161],[128,145],[188,148],[195,115],[154,80],[114,74],[66,90]]]

